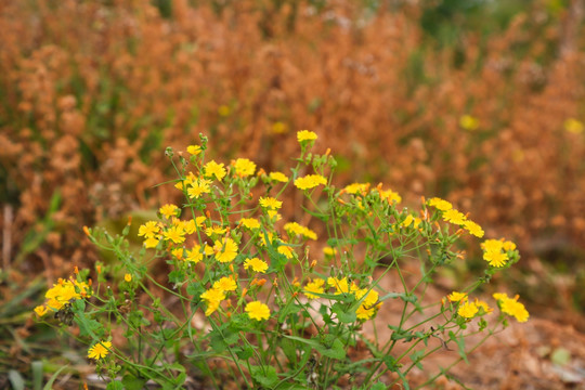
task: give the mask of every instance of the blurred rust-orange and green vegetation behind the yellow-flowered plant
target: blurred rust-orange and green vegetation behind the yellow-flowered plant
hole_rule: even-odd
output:
[[[176,200],[155,186],[167,146],[203,133],[277,170],[309,129],[339,186],[441,196],[517,242],[496,282],[585,330],[583,17],[578,0],[0,1],[0,327],[28,337],[47,283],[99,258],[83,225]],[[5,364],[28,353],[6,346]]]

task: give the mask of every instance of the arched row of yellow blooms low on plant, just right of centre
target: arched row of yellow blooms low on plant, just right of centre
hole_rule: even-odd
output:
[[[367,321],[376,315],[382,302],[378,302],[378,292],[370,288],[360,288],[355,283],[349,283],[347,277],[337,278],[328,277],[327,286],[335,288],[336,295],[339,294],[353,294],[355,299],[361,300],[360,307],[355,310],[355,314],[359,320]],[[309,299],[317,299],[318,295],[325,294],[325,281],[322,278],[314,278],[312,282],[307,283],[304,286],[304,295]]]

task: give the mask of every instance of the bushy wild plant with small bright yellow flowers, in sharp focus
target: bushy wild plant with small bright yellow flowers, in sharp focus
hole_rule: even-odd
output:
[[[508,317],[528,320],[518,297],[471,298],[519,260],[512,243],[478,243],[483,274],[433,301],[433,276],[465,261],[457,244],[464,235],[483,238],[481,226],[444,199],[411,211],[382,184],[336,188],[329,151],[311,152],[314,132],[297,135],[300,157],[289,173],[266,173],[246,158],[208,161],[205,136],[186,154],[167,150],[178,179],[165,185],[184,203],[162,205],[157,220],[139,227],[139,252],[129,245],[130,223],[119,236],[86,229],[117,261],[98,264],[93,278],[84,270],[60,281],[36,312],[51,322],[48,313],[66,308],[67,316],[56,315],[61,326],[79,328],[108,389],[147,380],[181,388],[194,370],[216,388],[225,378],[246,388],[408,388],[408,373],[432,353],[454,346],[466,360],[477,347],[470,338],[479,344]],[[300,191],[302,203],[285,205],[286,191]],[[311,226],[285,220],[285,206],[302,208]],[[152,270],[162,261],[169,272],[161,277]],[[385,278],[399,288],[384,288]],[[378,323],[385,307],[392,320]]]

